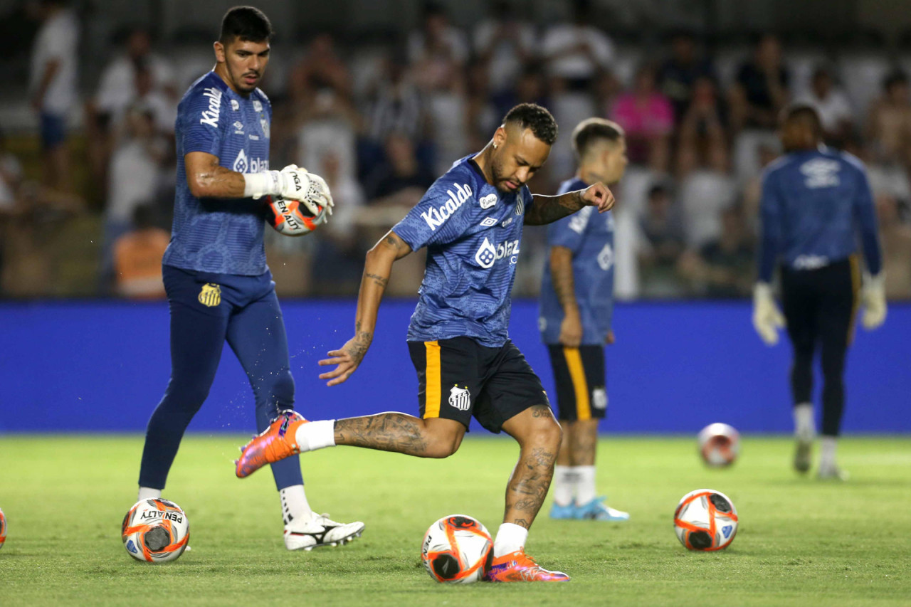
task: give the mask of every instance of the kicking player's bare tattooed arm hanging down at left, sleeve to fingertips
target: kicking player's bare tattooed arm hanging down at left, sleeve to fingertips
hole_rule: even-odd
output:
[[[376,315],[379,313],[389,276],[393,272],[393,263],[410,252],[411,247],[391,230],[367,252],[361,289],[357,294],[354,336],[338,350],[331,350],[329,355],[332,358],[325,358],[319,363],[320,366],[336,365],[332,371],[320,374],[320,379],[329,380],[327,386],[343,383],[361,364],[363,356],[367,354],[367,349],[374,341]]]

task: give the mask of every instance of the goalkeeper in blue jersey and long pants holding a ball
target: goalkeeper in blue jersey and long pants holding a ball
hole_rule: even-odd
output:
[[[294,402],[284,322],[262,244],[264,201],[257,199],[315,196],[331,206],[332,197],[305,170],[269,170],[271,106],[256,86],[271,33],[258,9],[230,9],[214,45],[215,68],[189,87],[178,108],[174,225],[163,261],[171,376],[148,420],[139,499],[161,495],[226,340],[250,379],[260,430]],[[340,524],[312,512],[296,460],[274,465],[272,473],[289,550],[343,543],[363,530],[361,522]]]

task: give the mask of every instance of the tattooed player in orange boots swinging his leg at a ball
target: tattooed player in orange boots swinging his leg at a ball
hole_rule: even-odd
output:
[[[320,365],[335,386],[348,379],[374,337],[376,314],[393,262],[427,247],[427,266],[408,349],[418,377],[421,417],[381,413],[307,422],[279,417],[237,461],[246,477],[267,462],[334,445],[446,458],[474,416],[520,446],[507,483],[506,513],[496,533],[488,581],[567,581],[525,552],[528,529],[544,501],[560,446],[560,427],[541,382],[507,334],[522,227],[557,221],[586,206],[609,211],[601,183],[560,196],[532,195],[527,180],[548,159],[557,123],[547,109],[509,110],[494,138],[455,162],[424,198],[367,253],[354,336]]]

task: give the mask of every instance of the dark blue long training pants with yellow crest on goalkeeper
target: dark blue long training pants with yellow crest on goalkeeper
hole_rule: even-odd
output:
[[[209,396],[225,340],[241,361],[262,431],[294,403],[288,337],[275,283],[260,276],[200,273],[165,265],[170,306],[171,376],[148,420],[139,486],[164,489],[189,421]],[[301,485],[298,458],[271,465],[278,489]]]

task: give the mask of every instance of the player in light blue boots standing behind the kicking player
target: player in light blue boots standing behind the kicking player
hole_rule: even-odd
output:
[[[599,181],[613,186],[626,170],[623,129],[589,118],[572,134],[578,172],[559,192],[582,190]],[[608,410],[604,345],[614,302],[614,218],[591,207],[548,225],[548,262],[541,281],[538,328],[548,345],[557,385],[563,442],[554,468],[552,519],[628,520],[595,492],[598,422]]]

